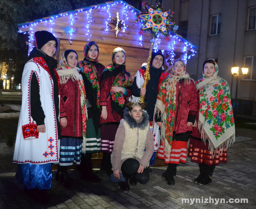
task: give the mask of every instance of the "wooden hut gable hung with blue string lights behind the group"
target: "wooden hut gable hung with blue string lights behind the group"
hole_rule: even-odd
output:
[[[112,62],[113,49],[122,47],[126,52],[126,69],[134,76],[141,64],[147,62],[151,39],[150,32],[141,34],[141,23],[134,21],[139,12],[124,1],[111,1],[18,26],[20,33],[29,33],[29,52],[36,46],[36,31],[46,30],[54,34],[59,42],[55,55],[57,60],[67,49],[76,50],[78,61],[83,60],[84,45],[95,41],[99,46],[99,62],[106,66]],[[187,62],[197,48],[178,34],[172,33],[169,37],[170,41],[165,41],[165,37],[159,34],[154,45],[155,50],[162,50],[167,71],[173,59],[181,58]]]

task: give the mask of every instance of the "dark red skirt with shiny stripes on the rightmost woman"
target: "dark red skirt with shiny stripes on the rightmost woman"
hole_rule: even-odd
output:
[[[204,144],[203,141],[190,138],[188,156],[191,158],[191,161],[205,163],[206,165],[219,165],[220,162],[228,161],[227,149],[217,150],[216,156],[213,158],[212,152],[209,150],[208,145],[208,142]]]

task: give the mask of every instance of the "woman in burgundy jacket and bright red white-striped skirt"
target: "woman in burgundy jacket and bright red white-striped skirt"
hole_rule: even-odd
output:
[[[189,78],[182,60],[175,60],[172,72],[158,89],[155,113],[161,112],[161,144],[157,157],[168,164],[165,177],[174,185],[176,166],[186,162],[187,142],[192,133],[198,107],[196,85]],[[156,121],[159,120],[156,117]]]

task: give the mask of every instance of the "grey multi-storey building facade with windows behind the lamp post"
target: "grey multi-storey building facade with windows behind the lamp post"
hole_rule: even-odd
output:
[[[238,109],[241,115],[256,116],[256,0],[158,0],[172,9],[178,34],[199,47],[188,60],[191,78],[202,77],[204,60],[213,58],[219,65],[219,76],[228,81],[235,98],[236,80],[230,68],[246,64],[248,74],[238,81]]]

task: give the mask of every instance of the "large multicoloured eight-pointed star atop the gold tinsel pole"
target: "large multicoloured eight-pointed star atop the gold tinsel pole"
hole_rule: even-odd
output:
[[[160,3],[156,4],[156,7],[153,7],[147,2],[143,2],[142,6],[147,12],[138,13],[137,20],[135,20],[135,22],[142,22],[141,31],[146,32],[151,30],[153,37],[156,37],[158,32],[164,36],[169,36],[170,28],[176,26],[170,19],[173,17],[172,14],[174,12],[171,10],[164,11]]]

